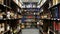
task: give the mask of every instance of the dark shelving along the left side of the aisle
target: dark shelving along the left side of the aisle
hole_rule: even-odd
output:
[[[20,3],[16,4],[16,2],[14,2],[13,0],[1,0],[0,2],[2,2],[0,3],[0,21],[4,21],[3,24],[5,25],[4,31],[2,32],[2,30],[0,30],[0,33],[14,33],[14,30],[16,30],[16,27],[18,26],[17,24],[19,24],[19,20],[21,19],[20,17],[18,17],[20,15],[18,14],[18,9],[21,9],[21,7],[19,6]],[[0,24],[2,23],[0,22]],[[8,28],[9,30],[7,30]]]

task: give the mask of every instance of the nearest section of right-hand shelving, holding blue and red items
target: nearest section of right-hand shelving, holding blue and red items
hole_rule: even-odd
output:
[[[60,0],[49,0],[49,10],[51,11],[51,31],[50,34],[60,34],[59,33],[59,6],[60,6]],[[58,24],[58,25],[57,25]]]

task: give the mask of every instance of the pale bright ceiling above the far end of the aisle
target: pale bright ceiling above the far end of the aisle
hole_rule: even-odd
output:
[[[44,0],[20,0],[20,2],[22,3],[21,7],[29,4],[37,5],[38,7],[40,7],[41,1]]]

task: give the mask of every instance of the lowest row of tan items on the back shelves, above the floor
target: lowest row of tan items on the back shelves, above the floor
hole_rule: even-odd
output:
[[[40,28],[41,26],[43,26],[43,22],[37,22],[37,23],[21,23],[21,28],[25,29],[25,28]]]

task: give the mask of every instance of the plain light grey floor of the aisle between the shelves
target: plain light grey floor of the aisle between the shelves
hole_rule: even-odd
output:
[[[39,29],[22,29],[18,34],[43,34]]]

